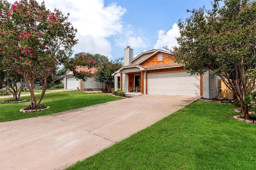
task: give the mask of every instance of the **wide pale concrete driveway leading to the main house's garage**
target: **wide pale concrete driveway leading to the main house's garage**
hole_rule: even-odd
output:
[[[0,123],[0,169],[60,170],[197,100],[143,95]]]

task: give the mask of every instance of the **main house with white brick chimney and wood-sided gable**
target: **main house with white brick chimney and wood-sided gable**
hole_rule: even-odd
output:
[[[115,90],[126,94],[163,94],[215,98],[218,76],[206,72],[190,75],[174,62],[170,51],[152,49],[133,58],[133,49],[124,49],[124,66],[114,72]]]

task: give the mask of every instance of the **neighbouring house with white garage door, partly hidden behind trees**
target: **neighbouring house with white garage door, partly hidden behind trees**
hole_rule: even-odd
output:
[[[94,74],[97,71],[96,68],[88,69],[88,67],[86,67],[86,66],[79,67],[76,70],[78,72],[79,71],[91,71],[92,74]],[[64,74],[64,89],[76,90],[77,87],[81,91],[105,91],[105,85],[100,82],[96,82],[94,80],[94,77],[88,78],[87,81],[84,82],[83,80],[77,80],[74,77],[73,71],[70,71],[70,70],[66,71],[66,73]]]

